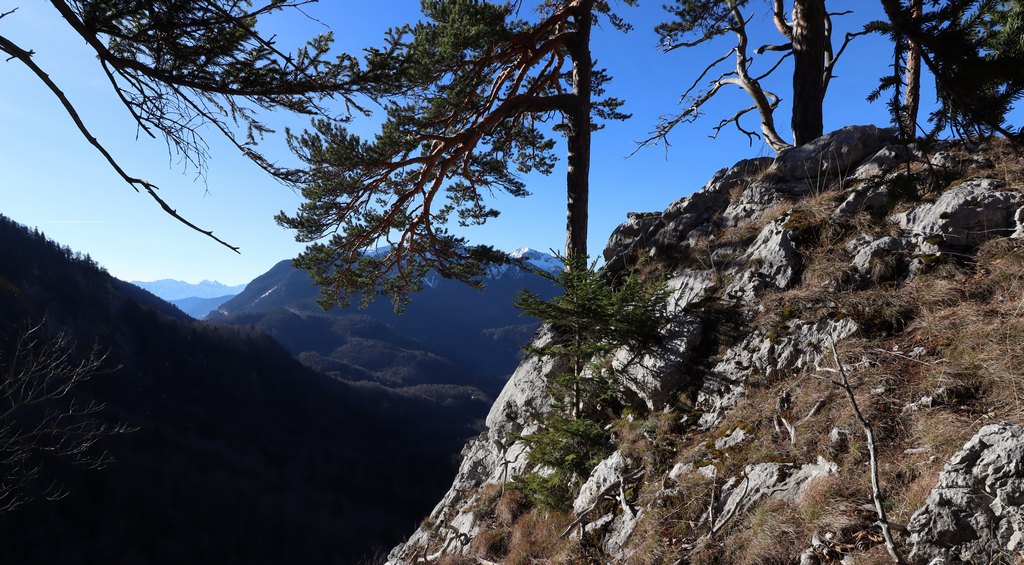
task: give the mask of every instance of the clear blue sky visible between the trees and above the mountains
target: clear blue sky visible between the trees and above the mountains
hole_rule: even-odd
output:
[[[635,27],[629,34],[604,26],[594,35],[594,55],[614,77],[608,93],[624,98],[625,110],[633,114],[628,122],[609,124],[594,137],[589,242],[594,255],[600,254],[627,212],[663,210],[698,189],[719,168],[746,157],[772,155],[758,142],[749,146],[745,136],[732,129],[723,130],[717,140],[709,139],[720,117],[749,105],[737,90],[720,96],[706,118],[680,126],[669,151],[642,149],[627,159],[659,115],[679,108],[679,95],[707,62],[729,48],[729,40],[721,39],[707,48],[658,53],[652,30],[664,18],[662,3],[623,7],[622,14]],[[380,45],[388,27],[419,15],[418,0],[345,1],[343,9],[341,4],[325,0],[307,11],[334,30],[339,50],[349,52]],[[768,2],[753,4],[758,13],[752,23],[752,43],[777,43]],[[874,2],[834,1],[829,7],[858,10],[837,19],[837,37],[880,16]],[[317,21],[298,16],[279,18],[271,27],[286,42],[324,31]],[[161,186],[162,195],[179,213],[240,246],[242,254],[188,230],[121,181],[81,137],[57,100],[17,61],[0,64],[0,213],[89,253],[125,279],[242,284],[301,251],[292,233],[272,219],[281,210],[294,211],[300,202],[297,194],[238,156],[213,132],[207,136],[212,158],[205,180],[197,178],[195,170],[183,170],[162,140],[136,138],[134,123],[119,106],[94,58],[48,3],[23,3],[15,14],[0,19],[0,34],[37,52],[37,62],[62,86],[87,125],[130,174]],[[864,98],[887,71],[889,49],[877,37],[860,38],[851,46],[825,100],[826,131],[888,122],[884,104],[868,104]],[[781,71],[778,81],[768,86],[787,98],[787,70]],[[926,92],[926,103],[932,97]],[[788,116],[783,100],[776,120],[786,137]],[[268,120],[276,126],[303,125],[285,116]],[[745,125],[757,126],[753,117]],[[268,141],[265,149],[273,159],[291,160],[280,141]],[[561,249],[564,164],[551,177],[527,181],[534,195],[497,199],[502,216],[466,231],[472,243],[509,251],[523,246]]]

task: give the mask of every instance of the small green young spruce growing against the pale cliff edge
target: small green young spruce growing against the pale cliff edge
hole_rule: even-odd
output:
[[[566,367],[548,382],[550,412],[541,431],[522,437],[529,462],[540,471],[516,479],[515,487],[542,508],[565,509],[594,467],[611,452],[606,425],[621,404],[621,384],[610,355],[621,348],[641,350],[655,344],[668,322],[667,293],[636,276],[609,285],[585,258],[566,260],[550,275],[563,291],[542,300],[524,291],[516,305],[525,315],[550,324],[554,338],[527,347],[529,354],[553,357]]]

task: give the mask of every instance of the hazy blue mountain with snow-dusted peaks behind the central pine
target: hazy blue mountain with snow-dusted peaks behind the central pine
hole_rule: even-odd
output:
[[[561,268],[534,250],[512,255],[539,269]],[[306,272],[282,261],[207,319],[259,329],[306,366],[343,380],[398,388],[468,385],[497,394],[539,324],[513,307],[513,298],[523,288],[551,296],[554,286],[516,265],[493,268],[482,290],[436,275],[426,282],[401,314],[384,299],[366,309],[324,311]]]

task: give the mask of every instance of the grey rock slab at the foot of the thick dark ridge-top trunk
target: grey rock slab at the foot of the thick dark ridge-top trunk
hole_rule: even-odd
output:
[[[771,167],[787,179],[818,179],[848,175],[853,168],[895,141],[893,129],[847,126],[810,143],[779,154]]]

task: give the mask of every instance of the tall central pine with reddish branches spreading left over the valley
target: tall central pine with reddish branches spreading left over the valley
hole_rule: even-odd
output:
[[[324,287],[325,304],[361,292],[400,305],[430,269],[478,282],[501,254],[450,226],[496,217],[490,191],[527,195],[519,175],[555,166],[552,130],[567,145],[566,254],[586,255],[594,119],[627,118],[621,100],[598,99],[608,76],[594,67],[591,29],[598,17],[627,26],[603,0],[541,2],[536,23],[516,18],[517,6],[423,2],[425,21],[369,51],[365,82],[387,100],[376,136],[319,121],[292,138],[308,166],[306,202],[278,219],[310,244],[296,264]]]

